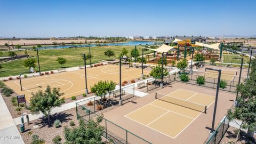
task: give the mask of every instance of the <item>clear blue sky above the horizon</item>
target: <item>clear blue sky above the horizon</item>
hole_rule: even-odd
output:
[[[255,0],[0,0],[0,37],[250,36],[255,6]]]

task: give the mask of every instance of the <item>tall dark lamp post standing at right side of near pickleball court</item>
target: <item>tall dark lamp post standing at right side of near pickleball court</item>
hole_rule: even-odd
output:
[[[212,135],[212,134],[214,134],[214,123],[215,123],[215,115],[216,115],[216,110],[217,110],[218,95],[219,95],[219,88],[220,88],[221,69],[205,68],[205,71],[206,70],[214,70],[214,71],[219,72],[217,90],[216,90],[216,96],[215,96],[215,103],[214,103],[213,118],[212,118],[212,128],[211,128],[211,131],[210,131],[210,134]]]

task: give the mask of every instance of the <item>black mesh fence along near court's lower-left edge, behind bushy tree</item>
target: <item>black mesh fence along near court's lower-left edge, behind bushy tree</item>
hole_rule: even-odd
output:
[[[90,119],[95,120],[97,117],[102,117],[97,113],[87,109],[85,106],[81,106],[76,103],[76,111],[77,111],[77,119],[84,119],[85,122],[88,122]],[[102,122],[100,123],[101,126],[104,128],[104,132],[102,134],[103,137],[108,139],[113,143],[151,143],[145,139],[140,138],[138,135],[127,131],[123,127],[109,121],[106,118],[102,117]]]

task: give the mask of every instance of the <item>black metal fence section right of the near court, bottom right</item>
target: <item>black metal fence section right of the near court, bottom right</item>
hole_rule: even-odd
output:
[[[223,121],[219,124],[215,133],[207,140],[207,144],[215,144],[220,143],[222,138],[224,137],[225,133],[227,132],[229,127],[229,119],[227,116],[223,119]]]

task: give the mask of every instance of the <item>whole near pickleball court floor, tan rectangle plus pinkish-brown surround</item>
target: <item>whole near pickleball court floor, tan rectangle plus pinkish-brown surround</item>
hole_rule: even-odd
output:
[[[211,127],[212,124],[216,90],[174,82],[157,93],[207,105],[206,114],[155,99],[153,92],[103,115],[109,121],[152,143],[204,143],[210,131],[206,127]],[[233,93],[219,92],[215,127],[233,105],[231,100],[235,100],[235,97]],[[125,138],[125,133],[120,130],[111,132]],[[137,140],[134,137],[128,139]]]

